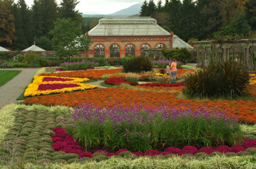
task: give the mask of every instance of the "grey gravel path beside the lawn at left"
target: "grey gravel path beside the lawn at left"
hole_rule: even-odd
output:
[[[16,99],[22,94],[25,87],[30,84],[31,79],[40,68],[10,68],[0,70],[21,70],[19,75],[0,87],[0,110],[4,105],[20,102]]]

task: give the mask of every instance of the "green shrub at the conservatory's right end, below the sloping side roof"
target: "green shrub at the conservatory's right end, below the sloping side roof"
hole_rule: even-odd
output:
[[[177,61],[181,61],[185,64],[192,59],[192,53],[189,52],[187,48],[173,48],[171,50],[163,48],[161,52],[165,59],[177,59]]]

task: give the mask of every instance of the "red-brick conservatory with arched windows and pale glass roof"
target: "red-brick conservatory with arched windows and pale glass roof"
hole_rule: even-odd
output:
[[[101,18],[86,36],[92,38],[86,57],[145,55],[149,49],[170,49],[173,45],[193,48],[150,17]]]

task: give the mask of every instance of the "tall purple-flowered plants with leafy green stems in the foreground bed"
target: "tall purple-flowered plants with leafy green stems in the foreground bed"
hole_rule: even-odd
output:
[[[241,140],[236,117],[216,108],[141,105],[74,107],[67,133],[88,147],[145,152],[163,147],[234,145]],[[256,145],[256,143],[255,143]]]

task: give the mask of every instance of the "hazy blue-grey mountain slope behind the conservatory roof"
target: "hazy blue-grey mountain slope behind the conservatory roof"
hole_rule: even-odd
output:
[[[103,14],[83,14],[83,17],[129,17],[132,15],[136,15],[140,13],[141,10],[141,3],[134,4],[128,8],[125,8],[124,10],[116,11],[115,13],[111,13],[109,15],[103,15]]]

